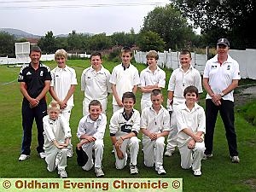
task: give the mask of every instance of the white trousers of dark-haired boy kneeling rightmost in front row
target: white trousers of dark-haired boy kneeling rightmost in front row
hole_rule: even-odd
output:
[[[179,143],[180,144],[180,143]],[[206,149],[205,143],[195,143],[194,149],[189,149],[187,143],[181,144],[178,147],[181,156],[181,166],[183,169],[189,169],[192,166],[192,170],[201,170],[201,160]]]

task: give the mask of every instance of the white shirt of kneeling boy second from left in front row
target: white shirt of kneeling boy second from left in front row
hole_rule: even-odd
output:
[[[106,114],[101,113],[96,121],[90,119],[90,114],[87,114],[79,121],[77,137],[80,139],[82,135],[86,134],[88,136],[96,137],[96,139],[103,139],[106,126]]]

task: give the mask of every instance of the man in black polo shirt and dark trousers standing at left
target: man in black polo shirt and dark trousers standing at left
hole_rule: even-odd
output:
[[[40,62],[42,55],[38,46],[32,47],[29,57],[31,62],[20,69],[18,82],[20,91],[24,96],[22,102],[22,126],[23,138],[19,160],[26,160],[30,157],[32,142],[32,125],[36,120],[38,128],[38,154],[44,159],[44,126],[43,117],[47,114],[45,95],[49,90],[51,80],[50,69]]]

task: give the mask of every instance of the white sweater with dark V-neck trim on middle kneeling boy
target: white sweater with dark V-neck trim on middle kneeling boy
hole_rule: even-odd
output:
[[[129,134],[131,131],[139,132],[141,120],[140,113],[136,109],[133,109],[131,119],[128,120],[125,119],[124,113],[124,108],[113,113],[109,123],[110,135],[120,137]]]

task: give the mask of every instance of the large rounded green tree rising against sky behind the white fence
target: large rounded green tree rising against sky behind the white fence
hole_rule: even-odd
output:
[[[144,17],[141,32],[148,31],[158,33],[166,42],[166,49],[184,48],[190,44],[191,37],[195,36],[186,18],[172,4],[157,7]]]

